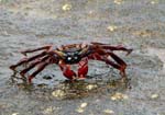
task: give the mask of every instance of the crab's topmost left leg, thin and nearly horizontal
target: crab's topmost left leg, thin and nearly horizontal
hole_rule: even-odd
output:
[[[33,51],[44,50],[44,49],[50,50],[51,48],[52,48],[52,46],[48,45],[48,46],[38,47],[38,48],[35,48],[35,49],[26,49],[26,50],[23,50],[21,53],[26,56],[26,53],[33,53]]]

